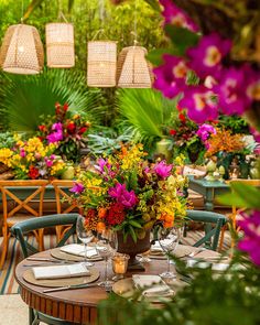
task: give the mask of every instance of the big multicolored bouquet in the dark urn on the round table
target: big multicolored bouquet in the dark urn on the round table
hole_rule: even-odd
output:
[[[122,149],[99,158],[95,171],[83,173],[72,192],[86,216],[86,227],[105,227],[130,237],[134,242],[155,223],[172,227],[185,216],[186,180],[175,174],[173,164],[145,160],[142,145]]]

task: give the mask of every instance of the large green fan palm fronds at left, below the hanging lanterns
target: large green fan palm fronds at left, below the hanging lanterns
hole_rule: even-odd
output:
[[[55,102],[67,102],[71,111],[85,113],[93,122],[100,116],[100,91],[87,89],[83,74],[64,69],[45,69],[34,76],[2,74],[0,97],[3,130],[35,131],[41,116],[54,115]]]

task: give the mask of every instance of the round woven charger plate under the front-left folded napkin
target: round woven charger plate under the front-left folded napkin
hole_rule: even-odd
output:
[[[65,285],[87,284],[91,283],[99,278],[99,271],[95,268],[89,269],[90,275],[76,277],[76,278],[63,278],[63,279],[42,279],[36,280],[34,278],[32,269],[26,270],[23,273],[23,279],[34,285],[56,288]]]

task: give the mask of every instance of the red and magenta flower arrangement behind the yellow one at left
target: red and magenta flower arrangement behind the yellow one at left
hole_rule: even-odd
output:
[[[47,122],[46,122],[47,121]],[[55,143],[55,153],[63,159],[79,161],[79,150],[86,147],[86,133],[90,127],[88,121],[68,110],[68,105],[55,105],[55,115],[43,117],[39,126],[39,137],[44,143]]]

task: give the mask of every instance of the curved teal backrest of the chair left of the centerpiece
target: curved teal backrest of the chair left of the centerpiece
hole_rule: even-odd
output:
[[[48,215],[48,216],[43,216],[39,218],[31,218],[12,226],[11,232],[20,241],[23,256],[24,258],[26,258],[30,254],[30,252],[35,253],[39,250],[32,245],[30,245],[29,242],[26,242],[24,235],[26,235],[30,231],[42,229],[42,228],[71,225],[72,227],[65,232],[62,240],[56,245],[56,247],[61,247],[67,241],[67,239],[72,235],[76,234],[76,224],[77,224],[78,216],[79,216],[78,214],[62,214],[62,215]]]

